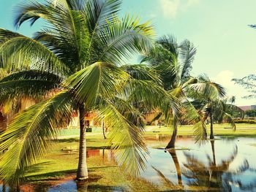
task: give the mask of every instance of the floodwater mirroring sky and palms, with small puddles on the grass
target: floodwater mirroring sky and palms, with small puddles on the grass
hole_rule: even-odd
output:
[[[150,157],[141,177],[148,182],[180,191],[256,191],[255,138],[219,137],[198,145],[192,138],[183,137],[177,139],[176,150],[162,150],[168,139],[162,135],[147,138]],[[89,150],[87,155],[113,159],[110,150]],[[90,191],[91,187],[69,180],[39,186],[37,191]],[[120,187],[99,191],[126,190]]]

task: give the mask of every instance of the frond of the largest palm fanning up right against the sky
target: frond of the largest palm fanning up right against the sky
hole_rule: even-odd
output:
[[[123,58],[131,54],[141,53],[151,47],[154,31],[149,23],[140,23],[139,18],[127,15],[122,20],[113,16],[113,22],[102,28],[97,42],[97,52],[94,53],[97,61],[120,64]]]

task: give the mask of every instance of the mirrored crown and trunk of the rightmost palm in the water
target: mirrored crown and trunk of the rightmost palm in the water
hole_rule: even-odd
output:
[[[233,163],[238,154],[237,146],[230,157],[226,160],[222,160],[220,164],[217,164],[214,148],[215,141],[212,140],[210,142],[212,158],[206,155],[207,163],[200,161],[195,155],[184,153],[187,158],[187,163],[184,163],[185,169],[182,170],[182,174],[189,179],[189,186],[197,186],[204,191],[232,191],[233,174],[242,174],[249,169],[248,161],[244,160],[243,164],[238,167],[235,172],[230,171],[230,164]]]

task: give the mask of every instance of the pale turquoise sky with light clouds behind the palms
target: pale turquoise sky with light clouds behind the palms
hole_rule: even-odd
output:
[[[0,28],[15,30],[15,6],[24,1],[0,0]],[[255,7],[255,0],[123,0],[121,12],[151,20],[156,38],[189,39],[197,47],[192,75],[208,74],[236,96],[237,105],[250,105],[256,101],[242,99],[246,91],[231,79],[256,74],[256,29],[248,26],[256,24]],[[24,25],[18,32],[31,36],[39,26]]]

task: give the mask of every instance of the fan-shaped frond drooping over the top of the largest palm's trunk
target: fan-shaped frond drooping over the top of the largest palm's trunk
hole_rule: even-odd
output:
[[[118,67],[98,62],[70,76],[63,86],[69,88],[78,101],[91,107],[97,94],[113,98],[121,82],[125,82],[128,77],[129,74]]]

